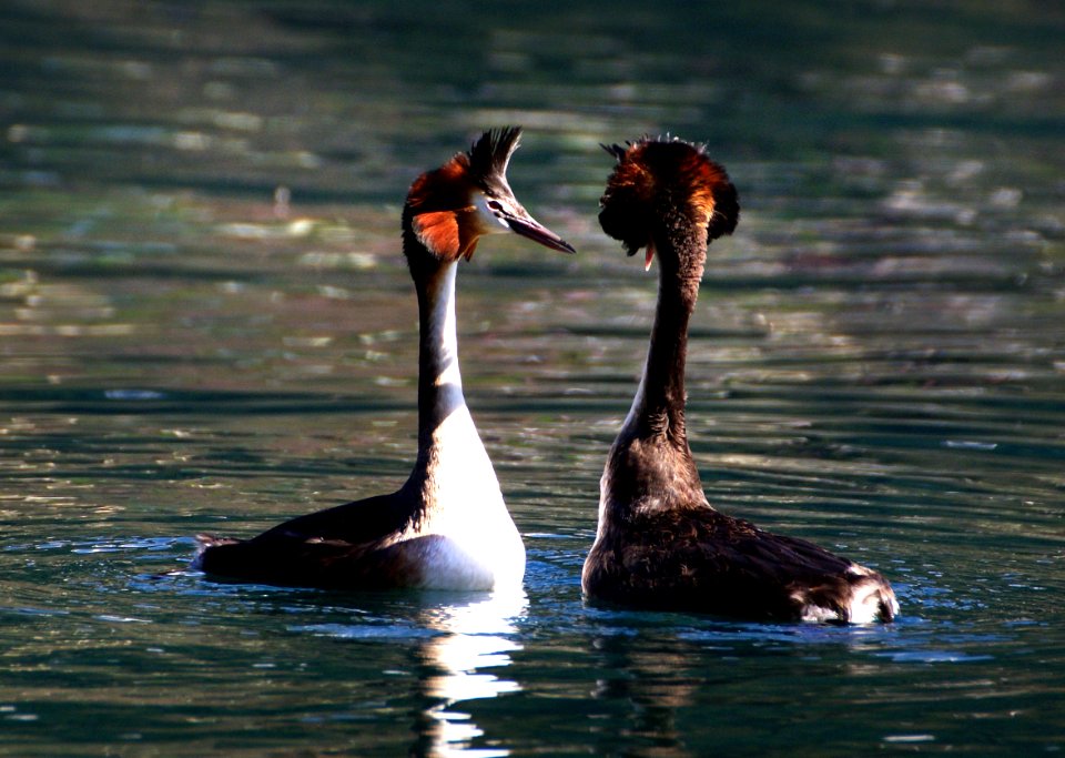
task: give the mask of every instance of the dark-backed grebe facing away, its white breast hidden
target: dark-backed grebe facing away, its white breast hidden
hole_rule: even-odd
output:
[[[629,255],[646,247],[647,269],[658,257],[659,290],[643,377],[600,482],[585,594],[757,620],[890,621],[899,604],[880,574],[707,502],[684,429],[688,323],[707,246],[739,220],[736,188],[700,145],[606,149],[618,163],[599,223]]]

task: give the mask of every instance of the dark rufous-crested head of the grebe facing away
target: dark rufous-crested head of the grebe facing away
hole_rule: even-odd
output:
[[[736,188],[724,168],[707,158],[702,145],[678,139],[643,138],[602,145],[618,159],[599,201],[602,231],[620,240],[629,255],[647,247],[655,254],[656,224],[665,219],[704,226],[707,242],[731,234],[740,219]]]

